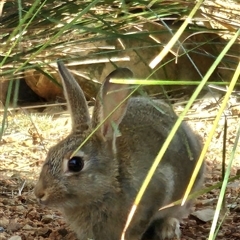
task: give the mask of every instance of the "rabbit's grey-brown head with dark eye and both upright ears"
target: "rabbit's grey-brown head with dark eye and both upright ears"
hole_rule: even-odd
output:
[[[112,151],[115,141],[112,124],[117,126],[120,123],[127,103],[123,102],[112,115],[108,115],[127,97],[129,88],[112,84],[110,79],[126,79],[132,77],[132,72],[129,69],[117,69],[106,78],[94,110],[94,122],[91,123],[81,88],[61,62],[58,62],[58,68],[71,114],[72,131],[49,150],[35,187],[35,195],[42,204],[72,208],[74,205],[86,205],[89,200],[97,203],[111,191],[120,191],[116,181],[118,168]],[[72,156],[92,133],[92,125],[97,127],[105,118],[106,121],[96,133]]]

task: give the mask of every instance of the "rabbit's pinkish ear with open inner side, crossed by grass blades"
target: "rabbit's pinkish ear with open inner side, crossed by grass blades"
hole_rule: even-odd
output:
[[[111,72],[103,82],[94,110],[93,126],[96,127],[112,113],[100,128],[101,136],[105,139],[111,140],[114,138],[116,127],[118,127],[125,115],[127,100],[116,110],[114,109],[130,94],[128,84],[115,84],[111,83],[110,80],[113,78],[128,79],[132,77],[133,73],[128,68],[118,68]]]

